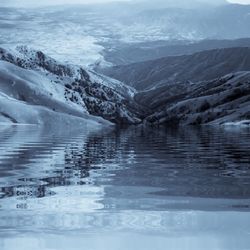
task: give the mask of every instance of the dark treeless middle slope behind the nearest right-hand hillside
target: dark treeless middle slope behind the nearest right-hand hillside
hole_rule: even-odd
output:
[[[173,56],[143,63],[117,66],[105,74],[137,90],[148,90],[172,82],[198,82],[238,71],[250,70],[250,48],[227,48],[193,55]]]

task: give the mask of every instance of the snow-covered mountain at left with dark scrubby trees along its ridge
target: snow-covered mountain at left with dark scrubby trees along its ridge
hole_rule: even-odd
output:
[[[131,104],[134,93],[119,81],[59,63],[26,46],[0,49],[2,122],[44,124],[60,117],[69,123],[68,117],[74,117],[103,124],[138,123]]]

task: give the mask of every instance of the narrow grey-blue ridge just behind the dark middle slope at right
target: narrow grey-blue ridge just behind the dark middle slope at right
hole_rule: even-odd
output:
[[[142,43],[102,43],[105,60],[113,65],[126,65],[150,61],[167,56],[190,55],[204,50],[250,47],[250,38],[236,40],[202,40],[202,41],[149,41]]]

